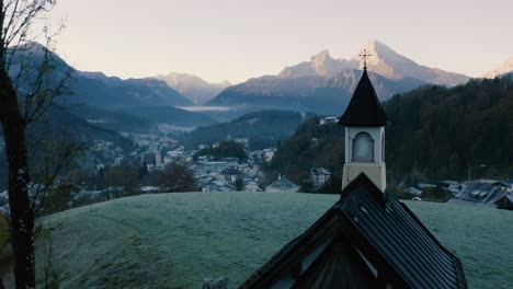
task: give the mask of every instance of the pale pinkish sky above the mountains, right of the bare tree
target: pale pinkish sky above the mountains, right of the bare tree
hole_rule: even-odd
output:
[[[512,0],[59,0],[57,53],[79,70],[232,83],[376,38],[418,63],[480,76],[513,56]]]

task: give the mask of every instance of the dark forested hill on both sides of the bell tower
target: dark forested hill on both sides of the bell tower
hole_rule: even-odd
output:
[[[384,103],[387,180],[513,176],[513,78],[471,80],[452,89],[428,85]],[[270,172],[295,182],[310,167],[335,175],[343,166],[343,129],[311,119],[280,146]],[[470,169],[470,170],[469,170]]]

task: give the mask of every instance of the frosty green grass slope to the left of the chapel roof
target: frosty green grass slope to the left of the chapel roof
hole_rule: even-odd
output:
[[[307,229],[337,196],[160,194],[70,210],[54,231],[62,288],[239,285]]]

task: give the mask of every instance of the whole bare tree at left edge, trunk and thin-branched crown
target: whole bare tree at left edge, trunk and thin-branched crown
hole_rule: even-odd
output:
[[[70,71],[61,71],[47,48],[32,43],[34,22],[55,4],[54,0],[0,0],[0,123],[8,159],[11,242],[16,288],[35,288],[34,208],[29,195],[27,125],[39,119],[56,97],[67,93]],[[60,77],[55,73],[60,72]],[[48,184],[44,184],[47,186]]]

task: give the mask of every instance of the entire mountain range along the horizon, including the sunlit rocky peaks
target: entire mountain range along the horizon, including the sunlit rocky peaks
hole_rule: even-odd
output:
[[[365,48],[371,55],[367,59],[369,77],[381,101],[425,84],[452,86],[469,79],[418,65],[378,41],[369,41]],[[20,51],[30,51],[30,57],[39,59],[45,49],[33,43],[29,49],[24,47]],[[261,109],[340,114],[357,84],[363,65],[357,56],[335,59],[328,50],[322,50],[309,61],[286,67],[276,76],[253,78],[230,85],[226,81],[208,83],[193,74],[174,72],[123,80],[102,72],[73,70],[57,55],[53,57],[57,72],[72,71],[70,89],[73,95],[62,99],[59,104],[72,107],[70,113],[88,119],[92,125],[117,131],[148,131],[159,124],[178,127],[214,124],[214,115],[209,117],[205,113],[175,107],[193,106],[205,101],[206,105],[230,107],[227,114],[232,116],[227,119],[242,115],[240,112]],[[513,59],[487,76],[511,70]]]

